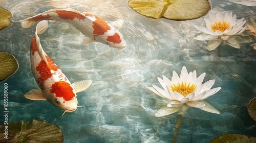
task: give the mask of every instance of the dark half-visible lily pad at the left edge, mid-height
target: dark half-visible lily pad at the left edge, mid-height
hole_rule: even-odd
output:
[[[0,82],[14,74],[17,69],[16,59],[12,55],[0,51]]]

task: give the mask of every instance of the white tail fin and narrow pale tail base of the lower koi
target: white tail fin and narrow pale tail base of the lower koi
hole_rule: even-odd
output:
[[[37,24],[36,30],[35,30],[36,49],[37,49],[38,54],[42,58],[42,60],[44,60],[46,63],[47,63],[47,59],[46,59],[46,56],[45,56],[45,52],[44,52],[44,50],[42,50],[42,45],[40,43],[40,38],[38,37],[37,34],[44,33],[47,28],[48,28],[48,21],[47,20],[42,20]]]

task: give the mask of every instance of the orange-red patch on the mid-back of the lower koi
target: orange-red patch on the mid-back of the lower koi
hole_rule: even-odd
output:
[[[59,68],[48,56],[46,56],[46,59],[48,64],[44,60],[41,60],[40,63],[36,66],[36,70],[40,75],[37,80],[42,88],[44,88],[44,82],[53,75],[51,70],[57,71]]]

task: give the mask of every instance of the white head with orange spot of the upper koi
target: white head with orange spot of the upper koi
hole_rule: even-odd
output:
[[[126,46],[126,41],[124,40],[123,35],[114,28],[106,31],[103,35],[97,35],[94,38],[96,41],[116,49],[123,49]]]

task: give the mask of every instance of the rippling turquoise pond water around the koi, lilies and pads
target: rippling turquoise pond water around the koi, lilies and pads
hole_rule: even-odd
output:
[[[233,1],[234,2],[234,1]],[[232,11],[238,19],[256,18],[255,6],[230,1],[210,1],[210,12]],[[220,110],[213,114],[189,108],[183,115],[176,142],[209,142],[225,133],[256,136],[256,123],[247,113],[250,100],[256,96],[256,51],[242,43],[241,49],[222,45],[218,50],[206,50],[207,41],[193,39],[200,33],[194,26],[205,26],[204,17],[186,21],[165,18],[152,19],[133,11],[127,1],[14,1],[1,7],[13,13],[12,20],[21,20],[52,8],[73,8],[96,14],[108,22],[119,18],[119,30],[127,46],[116,50],[101,43],[82,45],[84,36],[64,22],[50,23],[39,35],[44,51],[73,83],[90,79],[92,85],[79,92],[77,111],[65,113],[47,101],[31,101],[24,94],[38,89],[30,69],[30,42],[35,25],[23,29],[20,23],[0,31],[0,50],[15,56],[17,72],[0,83],[9,90],[9,122],[33,118],[58,125],[65,142],[171,142],[179,114],[155,117],[165,102],[147,89],[157,77],[188,71],[206,73],[204,82],[216,72],[214,87],[222,89],[205,101]],[[248,31],[247,31],[248,32]],[[218,69],[215,71],[216,66]],[[238,76],[234,76],[236,74]],[[1,94],[3,112],[3,94]],[[1,124],[3,124],[1,118]]]

